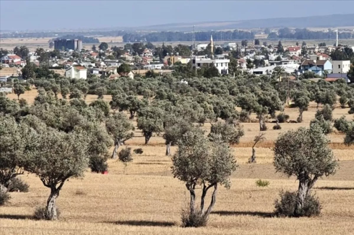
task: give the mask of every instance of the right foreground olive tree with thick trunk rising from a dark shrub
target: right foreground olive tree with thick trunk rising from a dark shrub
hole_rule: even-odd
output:
[[[290,130],[276,139],[273,162],[276,171],[299,180],[295,214],[304,206],[318,178],[336,172],[338,164],[328,143],[318,125]]]

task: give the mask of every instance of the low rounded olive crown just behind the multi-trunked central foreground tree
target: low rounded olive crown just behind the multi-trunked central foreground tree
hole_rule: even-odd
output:
[[[223,142],[228,144],[238,144],[240,143],[240,138],[244,136],[244,134],[242,126],[238,123],[217,122],[216,124],[211,125],[208,137],[212,140],[215,135],[221,135]]]

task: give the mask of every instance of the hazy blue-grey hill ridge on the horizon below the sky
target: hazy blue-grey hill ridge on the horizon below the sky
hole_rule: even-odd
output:
[[[222,30],[222,29],[245,29],[245,28],[324,28],[324,27],[349,27],[354,26],[354,13],[343,15],[251,19],[241,21],[214,21],[195,23],[173,23],[129,28],[129,30],[171,30],[192,31]],[[121,28],[123,29],[123,28]],[[124,30],[127,30],[125,28]]]

